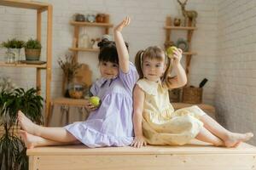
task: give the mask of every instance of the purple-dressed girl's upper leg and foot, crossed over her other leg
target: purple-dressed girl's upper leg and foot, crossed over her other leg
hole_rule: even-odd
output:
[[[42,127],[33,123],[21,111],[18,112],[20,127],[29,134],[61,143],[73,143],[76,139],[63,127]]]

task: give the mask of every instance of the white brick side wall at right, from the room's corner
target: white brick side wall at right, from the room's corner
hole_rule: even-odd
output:
[[[219,121],[235,132],[256,133],[255,54],[256,1],[220,0],[215,104]]]

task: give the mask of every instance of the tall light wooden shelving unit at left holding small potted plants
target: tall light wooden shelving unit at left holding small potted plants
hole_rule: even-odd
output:
[[[48,120],[50,105],[50,82],[51,82],[51,59],[52,59],[52,5],[49,3],[39,3],[21,0],[1,0],[1,6],[27,8],[37,10],[37,39],[41,41],[42,13],[47,13],[47,39],[46,39],[46,64],[27,65],[27,64],[6,64],[0,62],[0,67],[29,67],[36,69],[36,86],[38,94],[41,94],[41,71],[46,71],[46,92],[45,92],[45,118]],[[46,122],[47,123],[47,122]]]

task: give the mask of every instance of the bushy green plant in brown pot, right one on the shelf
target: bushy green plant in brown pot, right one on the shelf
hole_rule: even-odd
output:
[[[24,48],[26,60],[35,61],[40,59],[42,45],[37,39],[29,39]]]

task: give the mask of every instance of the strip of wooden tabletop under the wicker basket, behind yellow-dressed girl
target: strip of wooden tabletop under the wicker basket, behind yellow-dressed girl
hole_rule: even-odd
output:
[[[202,111],[205,111],[208,116],[211,116],[214,120],[216,120],[215,116],[215,108],[212,105],[207,104],[185,104],[185,103],[172,103],[172,106],[175,110],[182,109],[184,107],[190,107],[192,105],[197,105]]]

